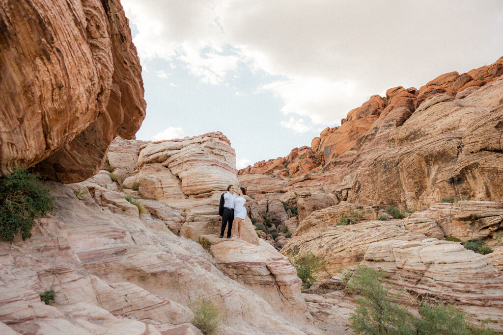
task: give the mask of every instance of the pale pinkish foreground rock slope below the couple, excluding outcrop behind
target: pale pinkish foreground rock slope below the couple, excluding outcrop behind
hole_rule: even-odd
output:
[[[268,302],[214,266],[233,259],[220,254],[215,262],[199,244],[174,235],[162,220],[121,210],[124,203],[110,195],[124,198],[123,193],[91,181],[46,185],[55,197],[52,215],[37,220],[32,238],[0,242],[4,330],[198,333],[187,323],[192,321],[189,307],[191,301],[209,298],[225,315],[224,333],[320,333],[304,315],[298,279],[292,277],[295,270],[283,256],[274,256],[274,250],[222,242],[242,244],[242,249],[233,249],[249,252],[255,263],[272,269],[277,281],[259,271],[254,289],[292,297],[281,300],[278,295]],[[83,187],[90,193],[79,200],[72,190]],[[39,293],[51,289],[55,302],[46,305]],[[276,311],[282,308],[291,312],[280,316]]]

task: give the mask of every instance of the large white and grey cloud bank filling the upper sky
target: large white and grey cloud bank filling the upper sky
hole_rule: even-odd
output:
[[[240,64],[285,78],[262,86],[284,114],[333,126],[387,88],[419,86],[500,56],[500,0],[339,2],[122,0],[142,61],[181,62],[209,84]],[[469,25],[473,18],[476,25]]]

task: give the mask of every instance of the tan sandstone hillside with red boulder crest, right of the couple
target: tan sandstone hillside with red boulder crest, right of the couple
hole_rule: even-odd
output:
[[[415,209],[442,198],[501,200],[501,74],[503,57],[420,89],[391,88],[351,110],[340,127],[325,129],[311,147],[248,166],[239,179],[281,200],[315,186],[339,201]]]

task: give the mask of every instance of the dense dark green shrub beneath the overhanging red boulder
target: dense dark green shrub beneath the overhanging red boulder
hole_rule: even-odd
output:
[[[31,237],[33,219],[54,209],[53,197],[38,174],[17,169],[0,178],[0,238],[12,241]]]

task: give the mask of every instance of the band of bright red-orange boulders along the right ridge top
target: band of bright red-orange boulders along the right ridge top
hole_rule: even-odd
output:
[[[279,170],[278,173],[283,176],[297,177],[309,172],[348,167],[354,163],[363,145],[402,126],[426,99],[439,94],[444,94],[444,99],[445,96],[463,98],[502,74],[503,57],[491,65],[461,75],[458,72],[443,74],[420,89],[404,89],[401,86],[390,88],[385,97],[373,95],[360,107],[352,109],[348,116],[341,120],[340,127],[324,129],[319,137],[312,140],[311,147],[293,149],[284,158],[258,162],[241,169],[239,175],[274,175],[274,171]],[[382,148],[386,144],[384,142],[379,146]],[[353,166],[346,174],[355,170],[356,166]]]

